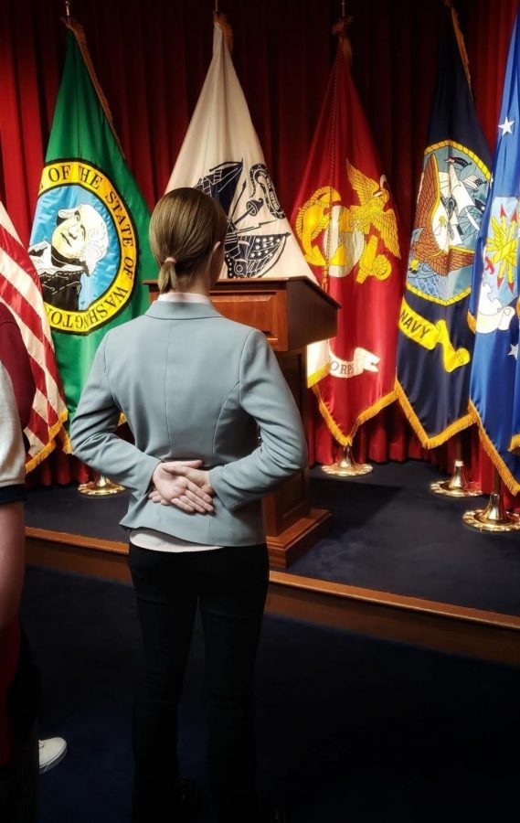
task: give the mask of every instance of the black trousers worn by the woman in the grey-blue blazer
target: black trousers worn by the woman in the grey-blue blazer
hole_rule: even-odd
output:
[[[199,604],[209,691],[209,781],[218,819],[254,818],[253,669],[269,562],[265,544],[163,552],[130,544],[144,647],[133,715],[133,823],[174,823],[177,705]]]

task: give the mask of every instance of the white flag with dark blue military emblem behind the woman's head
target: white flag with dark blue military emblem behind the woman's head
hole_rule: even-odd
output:
[[[166,191],[195,187],[229,219],[227,277],[293,277],[316,282],[281,208],[248,104],[218,23],[213,59]]]

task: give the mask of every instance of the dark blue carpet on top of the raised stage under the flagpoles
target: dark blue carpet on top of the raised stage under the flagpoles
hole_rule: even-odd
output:
[[[323,540],[288,570],[294,574],[520,615],[518,533],[484,535],[462,524],[483,497],[447,500],[429,492],[439,472],[409,461],[375,466],[358,479],[312,472],[313,506],[333,514]],[[103,499],[75,487],[29,493],[27,525],[107,540],[126,540],[118,526],[128,493]]]

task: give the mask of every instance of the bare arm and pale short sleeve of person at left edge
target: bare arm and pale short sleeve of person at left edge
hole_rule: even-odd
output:
[[[24,461],[15,394],[0,363],[0,629],[15,619],[24,584]]]

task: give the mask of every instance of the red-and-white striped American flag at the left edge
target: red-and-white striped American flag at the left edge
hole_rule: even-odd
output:
[[[59,435],[69,451],[63,428],[69,412],[63,399],[45,304],[36,269],[0,202],[0,302],[14,316],[29,355],[36,393],[26,428],[30,472],[55,447]]]

